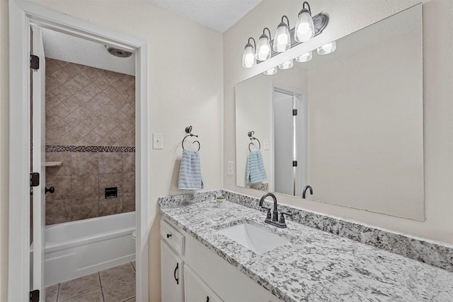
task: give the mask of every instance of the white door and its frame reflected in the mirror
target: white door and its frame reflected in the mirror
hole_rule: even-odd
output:
[[[306,183],[306,105],[304,95],[273,91],[275,192],[302,196]]]

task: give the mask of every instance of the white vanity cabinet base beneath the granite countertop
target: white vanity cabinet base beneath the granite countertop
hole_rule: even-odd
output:
[[[175,233],[177,235],[173,235]],[[169,234],[171,236],[167,237]],[[164,302],[171,301],[167,298],[170,295],[168,291],[178,291],[180,293],[180,290],[183,293],[182,300],[175,298],[173,301],[280,301],[273,294],[270,294],[268,290],[240,272],[239,269],[226,262],[205,245],[202,245],[190,234],[164,219],[161,220],[161,245],[166,247],[166,249],[161,248],[161,289],[162,301]],[[176,253],[176,248],[180,252]],[[170,256],[171,253],[173,253],[173,256]],[[168,257],[176,257],[176,260],[172,260],[173,262],[168,264]],[[175,284],[168,285],[171,284],[171,281],[175,282],[173,271],[178,257],[180,259],[179,263],[183,263],[183,267],[179,269],[179,265],[177,269],[177,273],[183,277],[180,280],[180,285],[183,286],[182,289],[180,287],[176,289],[174,287]],[[169,277],[168,272],[171,272]]]

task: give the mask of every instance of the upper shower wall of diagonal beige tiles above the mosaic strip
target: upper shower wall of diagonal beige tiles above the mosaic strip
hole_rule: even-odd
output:
[[[46,145],[134,146],[134,76],[45,62]]]

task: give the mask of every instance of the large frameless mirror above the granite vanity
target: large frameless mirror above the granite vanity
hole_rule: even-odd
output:
[[[236,185],[423,221],[421,9],[236,84]]]

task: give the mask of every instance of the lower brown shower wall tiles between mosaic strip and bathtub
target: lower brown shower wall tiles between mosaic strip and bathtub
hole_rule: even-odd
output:
[[[135,211],[135,153],[47,152],[46,225]],[[105,199],[105,188],[117,187],[118,197]]]

